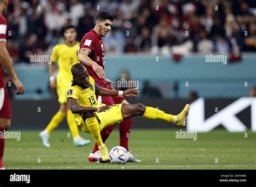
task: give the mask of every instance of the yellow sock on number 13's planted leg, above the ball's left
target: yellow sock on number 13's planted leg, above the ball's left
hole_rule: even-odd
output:
[[[99,131],[99,123],[96,119],[96,117],[93,118],[87,118],[85,120],[86,126],[88,127],[89,131],[92,134],[93,139],[97,143],[98,147],[101,147],[104,145],[102,141],[102,136],[100,136],[100,131]]]

